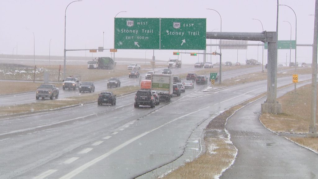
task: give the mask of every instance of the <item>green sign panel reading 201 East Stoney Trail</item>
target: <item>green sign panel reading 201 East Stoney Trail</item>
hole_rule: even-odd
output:
[[[205,18],[161,18],[160,49],[205,50]]]

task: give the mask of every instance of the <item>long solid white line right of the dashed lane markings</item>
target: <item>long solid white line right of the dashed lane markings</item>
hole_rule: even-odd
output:
[[[74,169],[74,170],[71,171],[70,173],[68,173],[68,174],[66,174],[66,175],[64,175],[64,176],[62,176],[60,179],[69,179],[69,178],[72,178],[72,177],[74,177],[75,175],[81,173],[81,172],[82,172],[83,170],[85,170],[86,168],[88,168],[88,167],[92,166],[93,164],[95,164],[95,163],[97,163],[97,162],[99,162],[99,161],[105,159],[105,158],[108,157],[110,154],[113,154],[113,153],[117,152],[117,151],[120,150],[121,148],[127,146],[128,144],[134,142],[135,140],[138,140],[138,139],[142,138],[143,136],[149,134],[150,132],[153,132],[153,131],[155,131],[155,130],[157,130],[157,129],[160,129],[161,127],[163,127],[163,126],[165,126],[165,125],[168,125],[168,124],[170,124],[170,123],[172,123],[172,122],[174,122],[174,121],[176,121],[176,120],[178,120],[178,119],[181,119],[181,118],[183,118],[183,117],[189,116],[189,115],[191,115],[191,114],[193,114],[193,113],[196,113],[196,112],[199,112],[199,111],[203,111],[203,110],[205,110],[205,109],[207,109],[207,108],[209,108],[209,107],[210,107],[210,106],[205,107],[205,108],[200,109],[200,110],[197,110],[197,111],[194,111],[194,112],[190,112],[190,113],[188,113],[188,114],[185,114],[185,115],[183,115],[183,116],[180,116],[180,117],[178,117],[178,118],[175,118],[175,119],[173,119],[173,120],[171,120],[171,121],[169,121],[169,122],[167,122],[167,123],[165,123],[165,124],[159,125],[158,127],[154,128],[154,129],[152,129],[152,130],[149,130],[149,131],[147,131],[147,132],[144,132],[144,133],[142,133],[142,134],[140,134],[140,135],[138,135],[138,136],[136,136],[136,137],[134,137],[134,138],[132,138],[132,139],[130,139],[130,140],[124,142],[124,143],[122,143],[121,145],[119,145],[119,146],[113,148],[113,149],[110,150],[109,152],[107,152],[107,153],[105,153],[105,154],[102,154],[102,155],[100,155],[99,157],[97,157],[97,158],[95,158],[95,159],[93,159],[93,160],[91,160],[91,161],[85,163],[84,165],[80,166],[79,168]]]

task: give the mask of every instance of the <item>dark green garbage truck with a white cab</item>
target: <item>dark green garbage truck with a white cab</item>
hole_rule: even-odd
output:
[[[115,62],[116,65],[116,62]],[[88,69],[114,69],[114,60],[109,57],[96,57],[93,61],[87,62]]]

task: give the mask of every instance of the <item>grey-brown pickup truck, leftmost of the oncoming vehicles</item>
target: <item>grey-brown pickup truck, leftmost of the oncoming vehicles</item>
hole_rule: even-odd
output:
[[[59,88],[56,88],[55,84],[41,84],[35,95],[36,99],[39,99],[39,97],[42,97],[42,99],[49,97],[51,100],[55,97],[57,99],[59,98]]]

